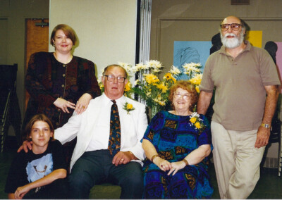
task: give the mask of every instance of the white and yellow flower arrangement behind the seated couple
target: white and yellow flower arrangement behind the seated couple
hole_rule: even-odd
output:
[[[140,96],[140,99],[145,102],[146,106],[151,108],[152,116],[158,111],[164,110],[164,107],[168,104],[169,89],[181,73],[188,75],[188,79],[195,85],[197,92],[200,92],[199,85],[202,80],[202,65],[200,63],[185,63],[183,65],[183,72],[172,65],[171,69],[162,78],[159,77],[159,73],[164,66],[159,61],[151,60],[145,64],[138,63],[137,65],[118,63],[118,65],[121,65],[127,71],[129,77],[133,75],[138,77],[135,80],[134,87],[128,79],[124,95],[130,98],[133,97],[133,94]],[[99,80],[98,82],[102,92],[104,92],[102,82]]]

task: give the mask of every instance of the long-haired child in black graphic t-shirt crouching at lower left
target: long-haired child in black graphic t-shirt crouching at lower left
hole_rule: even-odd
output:
[[[66,158],[51,121],[35,115],[25,135],[32,140],[32,151],[21,151],[13,159],[6,180],[8,199],[66,199]]]

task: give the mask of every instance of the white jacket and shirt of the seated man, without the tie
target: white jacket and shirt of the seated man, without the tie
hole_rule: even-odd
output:
[[[125,103],[132,104],[135,110],[125,111]],[[102,94],[90,101],[85,112],[80,115],[74,112],[68,123],[55,130],[54,137],[62,144],[77,137],[71,168],[85,151],[108,149],[112,104],[111,99]],[[147,128],[145,105],[125,96],[116,99],[116,104],[121,122],[121,151],[131,151],[138,158],[135,161],[142,165],[145,152],[141,139]]]

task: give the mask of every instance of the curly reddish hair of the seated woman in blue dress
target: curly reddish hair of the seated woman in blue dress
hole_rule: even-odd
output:
[[[189,94],[191,94],[190,97],[190,107],[189,110],[193,111],[195,105],[197,104],[199,95],[197,93],[197,90],[195,89],[195,86],[192,85],[192,83],[189,80],[178,80],[175,84],[173,84],[171,86],[171,89],[169,89],[169,96],[168,96],[168,100],[171,101],[171,107],[174,108],[173,105],[173,94],[174,92],[176,92],[176,89],[181,88],[181,89],[185,89]]]

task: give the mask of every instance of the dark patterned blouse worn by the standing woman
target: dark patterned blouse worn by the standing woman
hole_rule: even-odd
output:
[[[60,63],[51,52],[38,52],[30,56],[25,77],[25,88],[30,94],[23,128],[37,113],[47,115],[56,129],[68,122],[73,114],[63,113],[53,103],[58,97],[74,104],[85,93],[94,99],[101,94],[94,63],[85,58],[73,56],[68,64]]]

